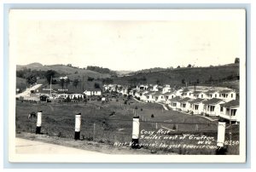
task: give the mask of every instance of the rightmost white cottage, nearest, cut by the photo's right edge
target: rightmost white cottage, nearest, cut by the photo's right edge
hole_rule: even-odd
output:
[[[228,119],[229,121],[240,122],[241,114],[239,111],[239,100],[230,100],[221,105],[219,117]]]

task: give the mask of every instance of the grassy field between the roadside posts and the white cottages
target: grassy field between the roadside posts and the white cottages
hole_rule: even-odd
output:
[[[130,105],[129,105],[130,104]],[[16,101],[16,133],[35,133],[36,118],[28,119],[29,112],[43,111],[42,133],[44,135],[59,138],[70,138],[74,135],[74,116],[82,113],[81,140],[96,141],[101,144],[113,145],[115,142],[130,142],[132,118],[134,113],[140,116],[140,129],[157,132],[159,129],[171,129],[172,132],[164,136],[173,135],[207,135],[214,137],[211,145],[216,146],[217,122],[211,122],[206,118],[190,116],[182,112],[164,111],[158,104],[143,104],[136,100],[129,100],[125,105],[123,98],[118,101],[113,99],[108,104],[101,101],[88,101],[85,103],[48,103],[37,104],[30,102]],[[114,112],[114,113],[113,113]],[[154,118],[152,118],[154,114]],[[157,124],[156,124],[157,123]],[[188,124],[189,123],[189,124]],[[198,123],[197,126],[194,123]],[[157,126],[156,126],[157,125]],[[234,126],[232,140],[239,140],[238,128]],[[227,129],[227,134],[229,129]],[[236,133],[236,134],[235,134]],[[142,135],[141,135],[142,136]],[[226,135],[229,139],[229,135]],[[157,140],[167,145],[190,145],[196,144],[198,140]],[[214,149],[191,149],[149,146],[148,143],[155,142],[154,139],[140,139],[144,143],[143,149],[150,149],[152,153],[166,154],[215,154]],[[228,147],[227,154],[239,154],[237,146]]]

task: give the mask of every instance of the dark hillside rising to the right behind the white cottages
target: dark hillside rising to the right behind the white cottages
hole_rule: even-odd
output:
[[[177,68],[161,72],[138,73],[132,76],[113,78],[113,82],[123,85],[133,82],[170,84],[171,86],[184,86],[185,83],[193,85],[194,82],[212,84],[230,80],[234,81],[238,73],[239,65],[230,64],[225,66]]]

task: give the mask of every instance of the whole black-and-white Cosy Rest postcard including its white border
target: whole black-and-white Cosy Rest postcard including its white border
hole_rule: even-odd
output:
[[[245,163],[245,9],[10,9],[9,161]]]

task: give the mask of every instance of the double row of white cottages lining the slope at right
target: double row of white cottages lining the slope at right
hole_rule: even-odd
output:
[[[160,102],[174,111],[219,116],[230,121],[240,121],[239,100],[230,89],[192,91],[180,89],[172,93],[138,90],[135,97],[145,102]]]

